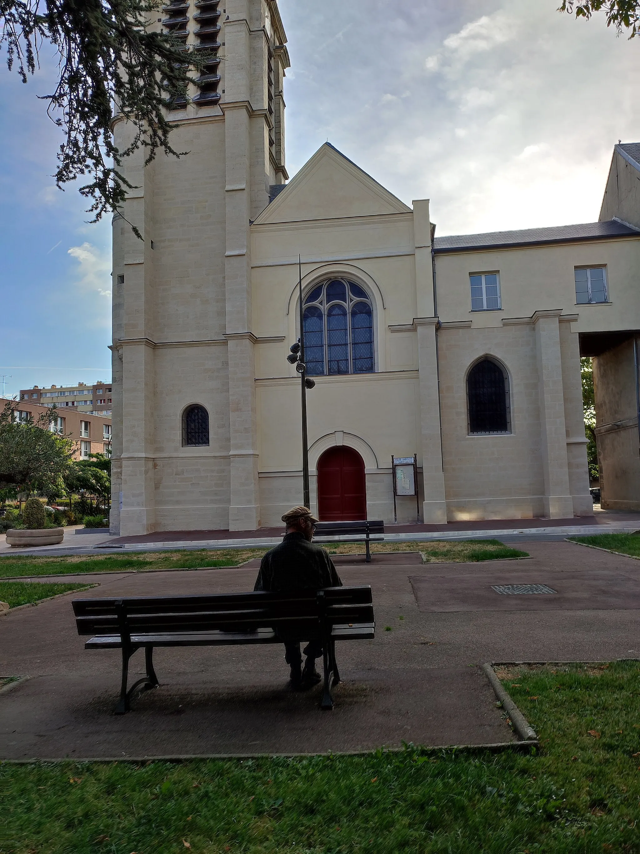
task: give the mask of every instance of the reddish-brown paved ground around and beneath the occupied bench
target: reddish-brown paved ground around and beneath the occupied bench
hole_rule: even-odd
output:
[[[339,646],[345,682],[335,690],[333,712],[317,709],[315,691],[288,690],[278,647],[201,647],[158,650],[160,688],[115,717],[119,655],[84,651],[70,600],[16,611],[0,619],[0,675],[32,678],[0,694],[0,757],[337,752],[403,740],[509,740],[478,664],[640,654],[640,562],[570,543],[526,548],[531,560],[482,564],[424,565],[412,553],[376,556],[372,564],[343,556],[344,582],[373,587],[377,634]],[[100,596],[248,590],[255,574],[248,566],[74,577],[99,582],[83,595]],[[559,591],[560,609],[550,607],[549,596],[491,591],[497,583],[540,582]],[[134,662],[134,673],[142,673],[142,661]]]

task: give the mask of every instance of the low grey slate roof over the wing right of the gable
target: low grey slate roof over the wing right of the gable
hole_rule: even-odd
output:
[[[640,145],[637,145],[637,149],[640,157]],[[640,237],[640,231],[624,225],[617,219],[607,219],[605,222],[587,222],[581,225],[554,225],[550,228],[524,228],[521,231],[487,231],[485,234],[435,237],[433,251],[436,254],[445,254],[470,252],[476,249],[507,249],[549,243],[606,240],[612,237]]]

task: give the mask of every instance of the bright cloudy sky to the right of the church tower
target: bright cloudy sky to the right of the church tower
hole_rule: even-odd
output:
[[[640,141],[640,52],[602,15],[576,21],[557,0],[280,6],[289,173],[329,137],[404,202],[430,198],[439,234],[597,219],[614,143]],[[333,20],[351,26],[328,61],[316,41]]]

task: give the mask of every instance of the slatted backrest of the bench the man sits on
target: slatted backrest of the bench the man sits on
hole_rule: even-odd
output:
[[[205,596],[73,600],[79,635],[252,631],[288,628],[317,634],[321,625],[373,623],[369,585]]]

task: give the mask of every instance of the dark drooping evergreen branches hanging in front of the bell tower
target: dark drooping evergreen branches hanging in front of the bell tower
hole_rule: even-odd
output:
[[[89,176],[80,193],[91,200],[92,222],[125,201],[131,184],[119,171],[123,158],[141,147],[147,163],[159,149],[179,156],[169,143],[166,105],[185,96],[189,65],[199,69],[210,56],[196,56],[172,34],[147,32],[161,7],[157,0],[0,0],[0,49],[9,70],[26,83],[38,50],[55,49],[59,78],[53,94],[43,96],[64,135],[55,182],[62,189]],[[113,102],[136,128],[122,151],[113,145]]]

